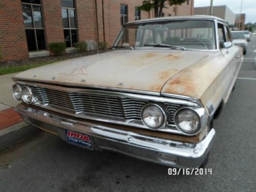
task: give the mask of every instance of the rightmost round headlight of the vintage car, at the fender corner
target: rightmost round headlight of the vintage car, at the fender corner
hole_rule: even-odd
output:
[[[192,110],[181,110],[176,115],[176,124],[180,131],[192,134],[200,128],[200,118],[198,114]]]

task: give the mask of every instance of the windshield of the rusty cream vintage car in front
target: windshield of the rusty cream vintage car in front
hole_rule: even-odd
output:
[[[169,20],[128,25],[123,27],[114,46],[148,48],[153,44],[180,46],[186,49],[216,49],[214,22]]]

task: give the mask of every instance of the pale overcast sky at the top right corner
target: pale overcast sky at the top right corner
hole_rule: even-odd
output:
[[[241,0],[213,0],[214,6],[226,5],[234,14],[240,13]],[[210,0],[195,0],[195,7],[210,6]],[[243,0],[242,13],[245,13],[245,23],[256,22],[256,0]]]

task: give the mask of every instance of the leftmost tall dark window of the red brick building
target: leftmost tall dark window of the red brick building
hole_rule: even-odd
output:
[[[22,0],[24,25],[29,51],[46,49],[40,0]]]

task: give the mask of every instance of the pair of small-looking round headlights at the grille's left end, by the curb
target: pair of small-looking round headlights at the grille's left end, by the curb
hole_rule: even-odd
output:
[[[33,93],[31,88],[27,86],[20,86],[19,84],[14,84],[12,87],[13,97],[17,100],[23,100],[27,104],[33,102]]]

